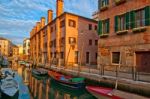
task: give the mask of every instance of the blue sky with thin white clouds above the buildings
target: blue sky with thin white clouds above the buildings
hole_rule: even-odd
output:
[[[92,18],[97,10],[97,0],[64,0],[64,11]],[[22,44],[30,31],[47,10],[56,16],[56,0],[0,0],[0,37]]]

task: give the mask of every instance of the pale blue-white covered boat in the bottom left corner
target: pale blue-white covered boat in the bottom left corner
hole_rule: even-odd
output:
[[[2,99],[18,99],[19,84],[13,79],[13,77],[8,76],[1,79],[0,90]]]

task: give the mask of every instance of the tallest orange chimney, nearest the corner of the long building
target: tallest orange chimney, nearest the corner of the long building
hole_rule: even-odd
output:
[[[56,17],[59,17],[63,13],[63,7],[64,7],[64,1],[63,0],[57,0],[56,3]]]

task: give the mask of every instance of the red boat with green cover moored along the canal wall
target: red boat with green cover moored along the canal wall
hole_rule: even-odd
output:
[[[48,74],[53,80],[55,80],[57,83],[63,86],[67,86],[73,89],[80,89],[85,86],[84,78],[74,78],[71,76],[65,76],[54,71],[49,71]]]

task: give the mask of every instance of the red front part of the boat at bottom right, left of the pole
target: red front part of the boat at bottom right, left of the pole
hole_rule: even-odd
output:
[[[111,88],[86,86],[86,89],[98,99],[122,99],[118,96],[113,95],[113,89]]]

